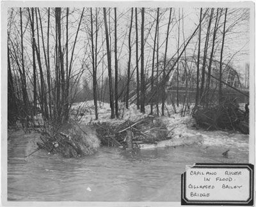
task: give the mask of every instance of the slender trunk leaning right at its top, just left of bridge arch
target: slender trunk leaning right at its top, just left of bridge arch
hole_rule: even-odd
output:
[[[167,48],[168,48],[168,38],[169,38],[169,28],[170,28],[170,23],[171,23],[171,17],[172,17],[172,8],[170,8],[170,15],[169,15],[169,22],[168,22],[168,27],[166,31],[166,45],[165,45],[165,52],[164,52],[164,68],[163,68],[163,84],[162,84],[162,116],[164,116],[164,102],[165,102],[165,86],[166,86],[166,73],[165,73],[165,68],[166,68],[166,56],[167,56]]]

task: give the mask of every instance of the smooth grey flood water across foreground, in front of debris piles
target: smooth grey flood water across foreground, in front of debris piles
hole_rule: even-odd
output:
[[[39,135],[8,134],[8,201],[180,201],[180,175],[194,163],[248,162],[248,135],[202,146],[141,150],[102,147],[62,158],[36,149]],[[214,139],[214,138],[213,138]],[[223,138],[224,140],[224,138]],[[229,149],[228,158],[222,153]]]

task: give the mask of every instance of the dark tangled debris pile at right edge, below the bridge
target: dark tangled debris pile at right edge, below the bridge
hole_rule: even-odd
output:
[[[212,107],[197,107],[192,116],[199,127],[207,130],[239,130],[249,134],[249,112],[239,109],[236,99],[225,99]]]

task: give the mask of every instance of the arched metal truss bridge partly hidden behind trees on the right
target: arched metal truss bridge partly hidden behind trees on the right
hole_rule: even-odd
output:
[[[209,58],[205,60],[205,82],[207,82],[208,70],[209,70]],[[176,65],[175,62],[177,62]],[[166,100],[170,102],[183,100],[185,95],[188,95],[190,103],[195,102],[196,96],[196,72],[197,72],[197,57],[186,56],[172,58],[166,61],[165,73],[168,74],[166,82],[163,81],[164,61],[160,61],[154,68],[154,90],[151,89],[151,77],[147,79],[146,84],[146,97],[147,102],[160,102],[163,92],[161,87],[165,85]],[[174,65],[174,66],[173,66]],[[202,68],[203,58],[200,58],[199,63],[199,86],[202,84]],[[220,61],[212,59],[211,63],[211,79],[209,84],[209,93],[211,93],[212,100],[215,100],[218,96],[220,77]],[[241,75],[233,68],[229,63],[222,63],[222,91],[223,95],[230,97],[238,97],[239,102],[248,102],[249,88],[243,87],[241,82]],[[178,93],[177,93],[178,92]],[[130,102],[136,101],[136,89],[130,93]]]

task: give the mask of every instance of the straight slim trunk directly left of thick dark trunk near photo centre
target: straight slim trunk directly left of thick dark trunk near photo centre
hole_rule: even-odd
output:
[[[137,78],[137,109],[140,109],[140,70],[139,70],[139,40],[138,40],[138,12],[135,8],[135,30],[136,30],[136,78]]]

